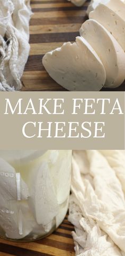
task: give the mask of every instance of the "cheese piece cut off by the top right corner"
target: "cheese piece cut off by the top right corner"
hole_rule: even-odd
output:
[[[125,21],[125,4],[121,0],[110,0],[106,6],[117,13]]]

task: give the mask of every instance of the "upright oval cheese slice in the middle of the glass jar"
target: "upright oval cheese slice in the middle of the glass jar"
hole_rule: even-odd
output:
[[[38,167],[31,170],[28,183],[30,189],[30,209],[37,224],[46,225],[58,213],[56,193],[46,161],[43,161]]]

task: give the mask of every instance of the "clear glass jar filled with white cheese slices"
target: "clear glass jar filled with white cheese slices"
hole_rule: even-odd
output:
[[[65,218],[71,150],[0,150],[0,236],[33,241]]]

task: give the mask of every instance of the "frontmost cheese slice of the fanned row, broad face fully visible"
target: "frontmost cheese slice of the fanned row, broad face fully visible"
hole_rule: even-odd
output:
[[[82,37],[43,56],[49,75],[68,90],[99,91],[105,84],[105,69],[94,49]]]

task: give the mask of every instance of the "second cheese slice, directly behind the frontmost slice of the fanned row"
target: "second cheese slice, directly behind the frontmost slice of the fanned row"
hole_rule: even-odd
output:
[[[91,44],[104,65],[105,87],[120,86],[125,79],[125,53],[117,40],[99,22],[92,19],[82,24],[80,35]]]

